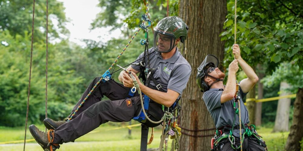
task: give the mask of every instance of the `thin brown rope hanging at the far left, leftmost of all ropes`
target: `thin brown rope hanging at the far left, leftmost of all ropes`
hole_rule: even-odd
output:
[[[34,15],[35,15],[35,0],[33,2],[33,20],[32,20],[32,44],[31,44],[31,61],[29,66],[29,80],[28,80],[28,91],[27,91],[27,107],[26,107],[26,118],[25,118],[25,136],[24,136],[24,146],[23,151],[25,150],[25,141],[26,141],[26,129],[27,129],[27,120],[28,120],[28,108],[29,108],[29,94],[31,88],[31,75],[32,75],[32,56],[33,56],[33,37],[34,37]]]

